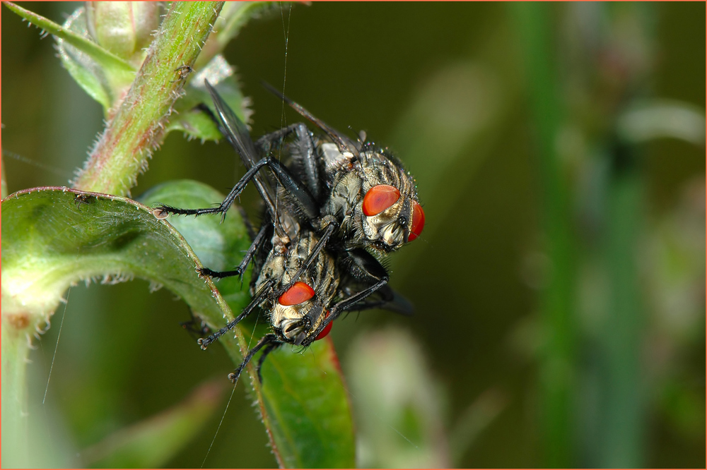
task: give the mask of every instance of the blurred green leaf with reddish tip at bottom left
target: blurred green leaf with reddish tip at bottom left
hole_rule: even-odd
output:
[[[226,381],[207,382],[187,399],[156,416],[109,435],[81,453],[91,467],[148,469],[164,466],[223,406]]]

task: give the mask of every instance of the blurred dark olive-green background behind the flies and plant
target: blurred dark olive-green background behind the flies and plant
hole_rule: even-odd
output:
[[[79,4],[23,6],[62,23]],[[332,331],[360,464],[705,466],[704,17],[672,2],[284,4],[228,46],[253,135],[299,120],[259,85],[286,76],[289,97],[366,130],[418,181],[425,231],[390,257],[416,315]],[[8,192],[66,185],[100,105],[5,8],[1,34]],[[132,196],[171,179],[228,191],[242,173],[230,146],[172,133]],[[153,463],[200,466],[232,364],[182,330],[185,304],[136,280],[74,287],[61,310],[30,367],[37,465],[82,465],[215,380],[208,421]],[[206,466],[274,466],[246,388]],[[384,399],[409,406],[402,421]]]

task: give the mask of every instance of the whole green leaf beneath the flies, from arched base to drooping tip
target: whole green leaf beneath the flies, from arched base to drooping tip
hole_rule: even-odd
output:
[[[222,199],[223,195],[214,189],[193,181],[168,183],[144,196],[150,204],[185,207],[206,207]],[[211,328],[221,327],[226,318],[233,318],[231,309],[240,312],[249,301],[240,279],[218,282],[221,296],[209,279],[200,279],[194,272],[201,266],[195,252],[212,269],[238,263],[250,245],[244,238],[238,211],[231,210],[223,224],[219,217],[173,217],[171,222],[184,233],[182,236],[141,203],[69,188],[14,193],[3,201],[2,210],[6,435],[21,428],[26,420],[26,337],[57,308],[71,283],[99,276],[114,281],[143,277],[181,296]],[[234,366],[247,350],[256,321],[253,318],[242,329],[236,327],[237,338],[223,335],[220,339]],[[260,320],[256,335],[262,335],[266,327]],[[354,466],[353,423],[338,364],[327,339],[305,351],[286,345],[272,353],[263,366],[264,385],[257,382],[255,365],[247,368],[281,465]],[[224,381],[228,372],[224,371]],[[16,397],[16,402],[9,401]]]

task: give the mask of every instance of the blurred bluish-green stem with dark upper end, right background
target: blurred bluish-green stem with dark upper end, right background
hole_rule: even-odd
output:
[[[625,147],[619,152],[630,152]],[[615,157],[615,156],[614,156]],[[616,157],[615,157],[616,159]],[[629,159],[622,157],[621,159]],[[643,227],[643,185],[632,162],[614,164],[607,188],[604,259],[609,311],[602,328],[604,390],[597,465],[643,466],[643,320],[638,283],[638,239]]]

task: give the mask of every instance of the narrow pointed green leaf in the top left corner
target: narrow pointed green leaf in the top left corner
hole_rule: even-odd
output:
[[[64,28],[61,25],[57,25],[57,23],[54,23],[52,20],[48,20],[43,16],[37,15],[36,13],[32,13],[29,10],[25,10],[25,8],[13,4],[10,1],[4,1],[3,3],[5,4],[5,6],[10,8],[22,18],[25,18],[25,20],[28,20],[37,28],[45,30],[46,32],[49,32],[49,34],[59,37],[60,39],[76,47],[76,49],[80,50],[81,52],[88,54],[93,60],[98,62],[98,64],[100,64],[106,70],[125,72],[135,71],[135,68],[128,64],[126,61],[120,59],[120,57],[116,56],[115,54],[112,54],[111,52],[108,52],[107,50],[103,49],[103,47],[100,47],[95,42],[86,39],[86,37],[78,35],[75,32]]]

